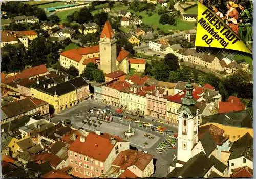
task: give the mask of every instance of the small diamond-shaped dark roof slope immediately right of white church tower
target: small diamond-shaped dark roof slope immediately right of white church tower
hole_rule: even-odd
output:
[[[214,151],[214,149],[216,148],[216,143],[214,139],[212,139],[209,131],[205,133],[200,142],[207,156],[209,156],[211,152]]]

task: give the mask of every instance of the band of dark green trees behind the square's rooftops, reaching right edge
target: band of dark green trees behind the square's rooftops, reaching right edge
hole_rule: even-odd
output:
[[[151,64],[146,62],[145,74],[159,81],[173,83],[190,79],[192,82],[200,83],[201,85],[209,83],[219,91],[223,101],[231,95],[239,98],[253,98],[253,85],[250,82],[252,75],[247,71],[238,70],[228,77],[219,79],[212,73],[203,74],[196,69],[179,66],[178,58],[174,54],[167,54],[164,60],[152,60]]]

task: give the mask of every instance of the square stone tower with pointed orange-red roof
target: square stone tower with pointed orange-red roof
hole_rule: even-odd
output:
[[[99,41],[100,70],[111,73],[116,70],[116,39],[109,21],[106,21]]]

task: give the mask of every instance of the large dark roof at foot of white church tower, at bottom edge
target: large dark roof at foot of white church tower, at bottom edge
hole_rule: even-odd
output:
[[[183,167],[174,175],[182,178],[202,178],[214,164],[202,151],[189,159]]]

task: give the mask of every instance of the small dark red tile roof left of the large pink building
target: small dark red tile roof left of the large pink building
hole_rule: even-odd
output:
[[[62,159],[53,153],[44,152],[37,155],[35,161],[37,161],[37,163],[49,162],[51,166],[57,167],[62,162]]]

